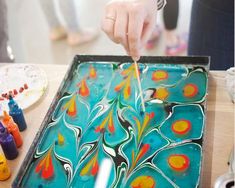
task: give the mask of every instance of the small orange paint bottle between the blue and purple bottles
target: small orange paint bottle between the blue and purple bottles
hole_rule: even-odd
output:
[[[16,143],[16,147],[19,148],[23,144],[23,139],[21,137],[17,124],[6,111],[4,111],[2,122],[7,128],[8,132],[13,136]]]

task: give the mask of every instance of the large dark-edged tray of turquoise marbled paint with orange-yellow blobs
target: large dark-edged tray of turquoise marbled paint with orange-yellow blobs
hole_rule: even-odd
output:
[[[76,56],[13,187],[198,187],[208,57]]]

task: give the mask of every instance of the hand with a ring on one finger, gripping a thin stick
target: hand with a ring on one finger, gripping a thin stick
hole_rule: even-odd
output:
[[[156,0],[112,0],[105,7],[102,29],[115,43],[123,45],[134,61],[156,24]]]

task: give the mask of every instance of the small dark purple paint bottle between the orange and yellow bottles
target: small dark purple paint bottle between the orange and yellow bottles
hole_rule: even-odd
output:
[[[15,140],[13,136],[8,133],[7,129],[3,127],[1,122],[0,122],[0,144],[8,160],[15,159],[18,156],[18,150],[16,147]]]

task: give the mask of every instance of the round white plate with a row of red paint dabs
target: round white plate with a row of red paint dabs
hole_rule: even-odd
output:
[[[48,85],[46,73],[36,65],[11,64],[0,67],[0,116],[9,110],[6,94],[10,91],[21,109],[37,102]]]

